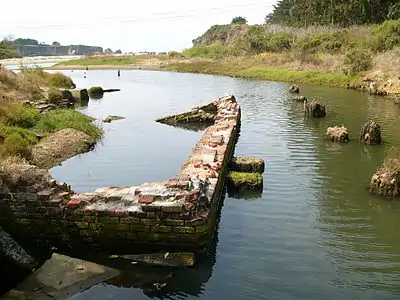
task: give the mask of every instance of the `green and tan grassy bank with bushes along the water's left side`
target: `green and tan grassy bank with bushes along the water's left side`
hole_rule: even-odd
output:
[[[102,131],[92,118],[73,109],[56,109],[40,113],[24,100],[43,100],[42,88],[70,88],[72,80],[62,74],[49,74],[40,69],[22,69],[19,74],[0,68],[0,159],[7,156],[31,157],[32,147],[40,138],[64,128],[88,134],[94,141]]]

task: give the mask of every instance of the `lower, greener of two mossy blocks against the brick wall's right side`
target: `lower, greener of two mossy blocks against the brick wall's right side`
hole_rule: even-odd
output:
[[[227,185],[229,189],[241,190],[262,190],[263,176],[260,173],[236,172],[228,173]]]

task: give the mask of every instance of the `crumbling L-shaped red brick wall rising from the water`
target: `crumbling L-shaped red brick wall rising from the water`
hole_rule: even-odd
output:
[[[213,103],[215,124],[206,129],[176,177],[75,194],[34,166],[18,170],[22,175],[12,184],[0,173],[0,224],[20,239],[61,248],[127,252],[140,246],[206,247],[240,124],[240,107],[233,96]]]

